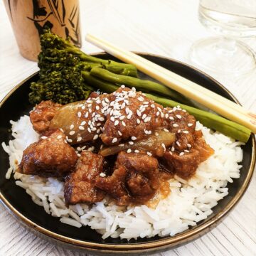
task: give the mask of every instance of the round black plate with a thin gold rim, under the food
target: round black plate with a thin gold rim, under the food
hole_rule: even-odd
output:
[[[213,92],[238,102],[228,90],[225,90],[225,88],[213,80],[213,78],[208,77],[208,75],[203,74],[188,65],[156,55],[145,53],[140,53],[140,55],[164,68],[203,85]],[[97,54],[97,57],[116,60],[107,53],[99,53]],[[139,76],[141,78],[152,80],[143,73],[139,73]],[[33,107],[28,102],[28,92],[30,83],[36,80],[38,80],[38,73],[21,82],[21,84],[12,90],[1,102],[0,142],[8,143],[11,139],[11,124],[9,120],[12,119],[16,121],[21,115],[28,114]],[[206,220],[201,221],[196,227],[193,227],[190,230],[175,235],[173,238],[159,238],[156,236],[150,239],[144,238],[129,241],[112,238],[102,240],[101,235],[88,227],[74,228],[70,225],[60,223],[58,218],[53,218],[48,215],[42,207],[33,203],[25,190],[15,185],[13,178],[6,180],[5,174],[9,168],[9,156],[4,152],[2,147],[0,147],[0,199],[7,208],[15,213],[18,219],[23,220],[23,223],[26,223],[29,227],[33,228],[33,230],[39,231],[45,238],[53,238],[53,241],[62,242],[64,245],[72,244],[75,245],[75,247],[80,247],[93,252],[116,252],[118,254],[125,252],[138,253],[165,250],[166,248],[181,245],[183,242],[198,238],[198,236],[212,228],[214,224],[217,223],[220,218],[223,218],[223,216],[233,208],[235,203],[239,201],[250,182],[255,164],[254,137],[251,136],[249,142],[247,142],[245,146],[242,146],[242,149],[244,157],[242,160],[243,167],[240,170],[241,177],[234,179],[233,183],[228,184],[228,196],[219,201],[218,205],[213,208],[213,214]]]

